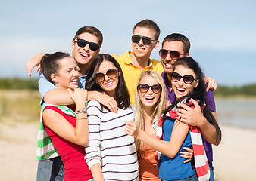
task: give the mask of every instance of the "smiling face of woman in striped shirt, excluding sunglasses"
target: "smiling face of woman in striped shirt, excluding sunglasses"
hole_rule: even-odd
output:
[[[108,60],[104,60],[101,65],[98,67],[98,72],[102,72],[106,74],[106,72],[109,69],[117,69],[116,66],[114,66],[114,63],[111,63]],[[105,91],[109,96],[115,97],[116,95],[116,88],[119,82],[119,75],[117,75],[116,78],[109,78],[107,75],[105,75],[105,80],[99,82],[99,86],[101,86],[102,90]]]

